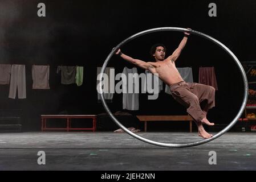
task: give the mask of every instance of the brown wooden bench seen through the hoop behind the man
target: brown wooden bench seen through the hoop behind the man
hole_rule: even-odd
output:
[[[189,121],[189,132],[192,132],[193,118],[190,115],[136,115],[140,121],[144,121],[144,131],[147,131],[148,121]]]

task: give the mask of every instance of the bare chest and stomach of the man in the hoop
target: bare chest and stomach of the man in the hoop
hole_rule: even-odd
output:
[[[152,65],[148,70],[151,73],[158,73],[159,78],[167,85],[176,84],[177,82],[184,81],[176,68],[175,62],[170,59],[164,61],[148,62]]]

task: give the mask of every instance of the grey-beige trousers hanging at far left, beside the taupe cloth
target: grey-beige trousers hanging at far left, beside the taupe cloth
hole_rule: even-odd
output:
[[[26,72],[25,65],[11,65],[11,81],[9,98],[16,98],[18,89],[18,98],[26,98]]]

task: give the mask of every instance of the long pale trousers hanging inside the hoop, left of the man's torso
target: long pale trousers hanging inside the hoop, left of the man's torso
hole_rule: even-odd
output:
[[[135,93],[135,80],[133,80],[132,85],[129,85],[128,82],[129,77],[130,79],[135,79],[131,74],[128,75],[128,73],[137,73],[137,68],[128,69],[127,67],[124,67],[123,73],[127,78],[126,83],[123,82],[123,109],[139,110],[139,93]],[[130,86],[133,88],[133,93],[128,93],[128,88]],[[124,91],[126,91],[126,93],[124,93]]]

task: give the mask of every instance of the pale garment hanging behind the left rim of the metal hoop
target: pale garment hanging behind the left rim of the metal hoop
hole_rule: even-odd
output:
[[[111,70],[114,71],[114,74],[111,75]],[[101,71],[101,67],[97,67],[97,77],[99,76]],[[115,68],[113,67],[107,67],[105,68],[105,74],[107,74],[108,79],[102,81],[102,85],[108,85],[108,93],[104,93],[104,98],[105,101],[108,103],[111,103],[113,100],[113,91],[115,90]],[[111,84],[111,80],[113,81],[114,84]],[[97,85],[99,85],[99,80],[97,80]],[[112,90],[112,93],[111,93]],[[97,100],[98,102],[101,102],[101,97],[100,94],[97,93]]]

